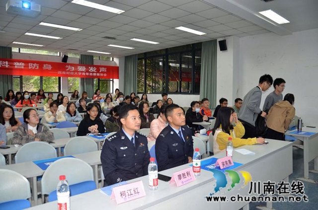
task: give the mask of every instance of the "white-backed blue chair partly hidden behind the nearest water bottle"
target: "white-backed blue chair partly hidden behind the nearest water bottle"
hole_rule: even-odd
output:
[[[49,202],[56,200],[60,175],[65,175],[71,196],[96,189],[91,166],[80,159],[65,157],[53,162],[44,172],[41,181],[42,201],[45,195],[49,195]]]

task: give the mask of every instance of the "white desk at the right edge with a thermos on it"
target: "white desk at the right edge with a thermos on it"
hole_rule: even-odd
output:
[[[296,137],[304,142],[304,178],[297,179],[317,183],[317,181],[309,179],[309,172],[318,173],[318,128],[317,126],[316,128],[303,127],[302,131],[315,134],[307,136],[302,134],[291,134],[293,131],[286,133],[286,135]],[[309,170],[309,162],[312,160],[314,160],[314,170]]]

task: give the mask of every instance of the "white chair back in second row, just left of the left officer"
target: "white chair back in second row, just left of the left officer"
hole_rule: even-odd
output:
[[[97,144],[88,137],[74,137],[70,139],[64,147],[65,156],[92,151],[97,151]]]

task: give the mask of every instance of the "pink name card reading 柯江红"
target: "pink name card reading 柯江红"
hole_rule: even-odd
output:
[[[110,199],[116,199],[117,204],[122,204],[146,196],[142,181],[133,182],[113,188]]]

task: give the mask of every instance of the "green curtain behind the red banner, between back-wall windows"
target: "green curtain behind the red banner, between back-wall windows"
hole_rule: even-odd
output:
[[[79,64],[94,65],[94,57],[89,55],[80,55]],[[79,94],[83,91],[87,92],[87,97],[92,98],[94,94],[94,79],[79,78]]]

